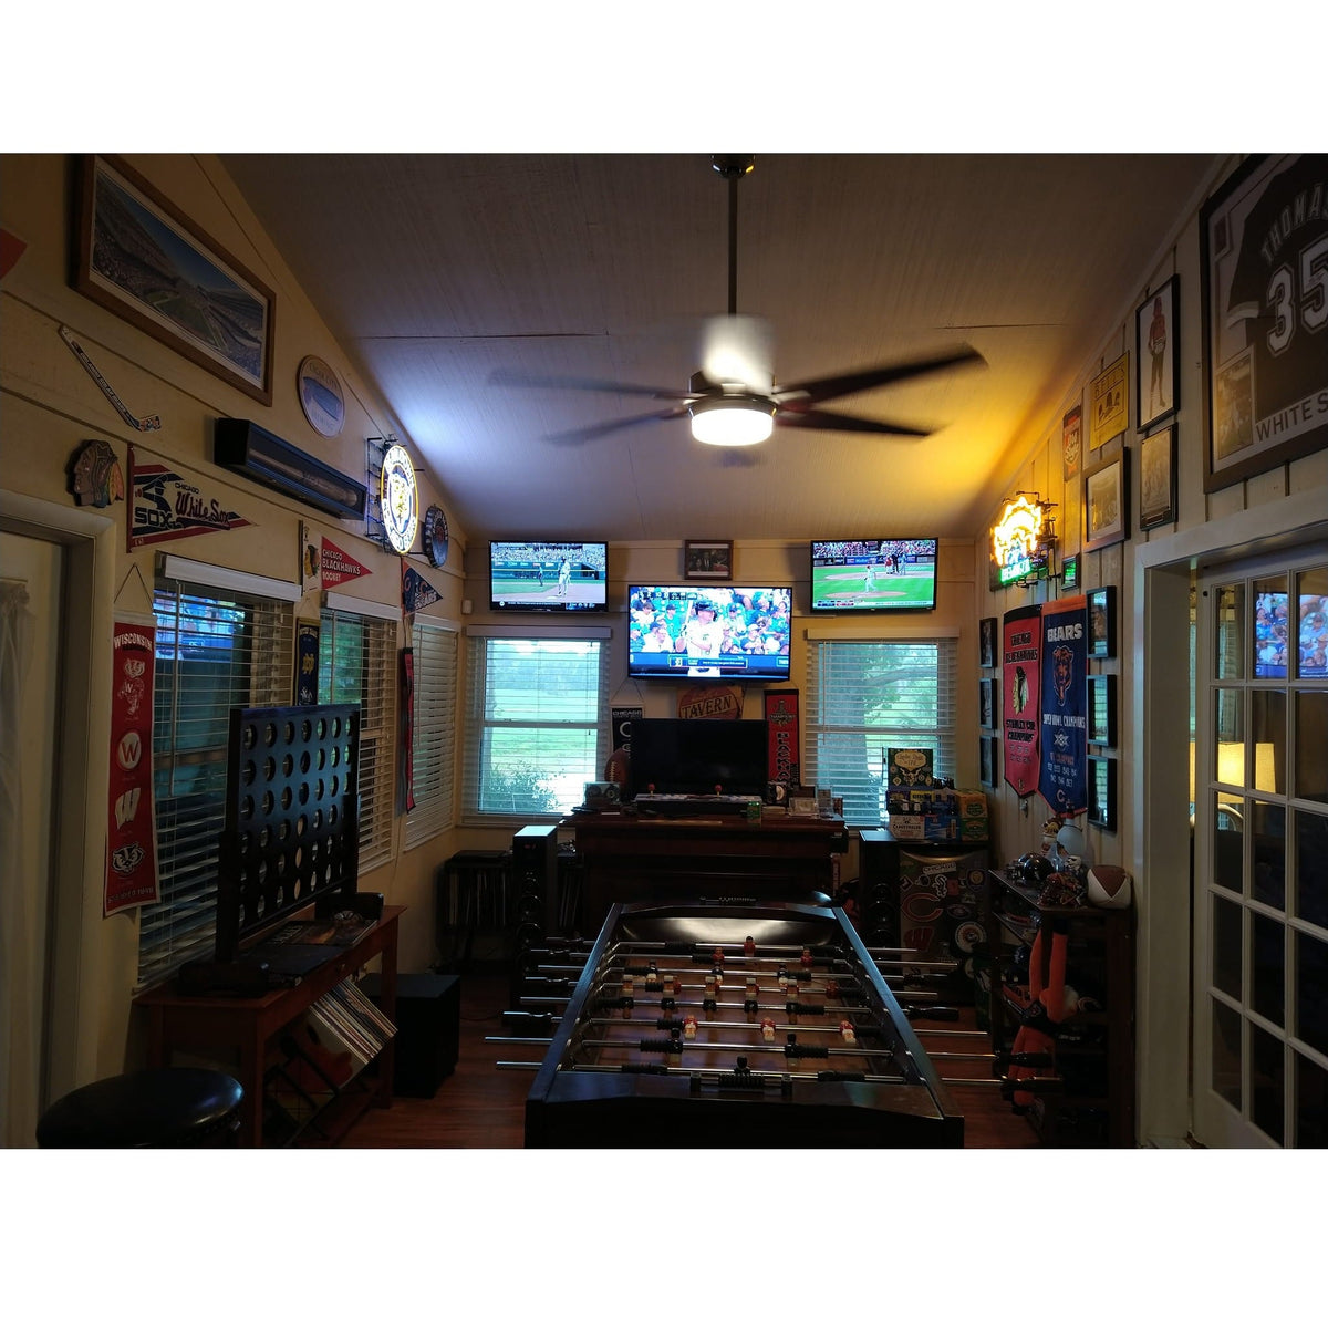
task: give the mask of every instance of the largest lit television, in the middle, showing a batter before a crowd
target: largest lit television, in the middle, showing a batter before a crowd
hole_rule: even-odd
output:
[[[791,618],[789,586],[629,586],[627,676],[785,683]]]

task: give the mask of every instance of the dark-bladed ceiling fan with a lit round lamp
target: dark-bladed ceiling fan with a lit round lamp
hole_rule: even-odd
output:
[[[772,337],[764,319],[737,312],[737,186],[756,165],[753,157],[710,158],[713,169],[729,186],[729,312],[705,320],[701,368],[692,374],[685,392],[651,388],[635,382],[600,378],[540,377],[503,369],[490,374],[490,382],[515,388],[570,388],[582,392],[616,392],[675,402],[668,409],[607,420],[602,424],[550,434],[550,442],[579,444],[659,420],[691,416],[692,436],[716,446],[749,446],[764,442],[776,428],[830,429],[849,433],[894,434],[923,438],[931,429],[863,420],[821,409],[826,401],[854,392],[903,382],[961,364],[983,363],[971,347],[961,345],[924,359],[879,364],[802,382],[776,384],[772,367]]]

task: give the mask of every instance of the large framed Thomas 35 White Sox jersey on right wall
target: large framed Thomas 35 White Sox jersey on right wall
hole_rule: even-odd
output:
[[[1199,211],[1204,493],[1328,448],[1328,412],[1301,405],[1328,392],[1323,220],[1292,224],[1325,173],[1251,157]]]

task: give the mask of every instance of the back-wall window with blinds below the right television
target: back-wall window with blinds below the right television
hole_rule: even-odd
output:
[[[810,641],[805,782],[843,798],[850,825],[883,825],[884,753],[920,746],[955,776],[955,641]]]

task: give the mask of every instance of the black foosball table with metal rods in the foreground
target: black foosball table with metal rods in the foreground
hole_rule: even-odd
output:
[[[550,1036],[509,1040],[547,1041],[526,1147],[963,1145],[839,908],[614,904],[588,954],[547,951],[527,991],[525,1032]]]

